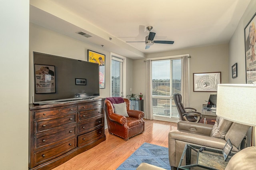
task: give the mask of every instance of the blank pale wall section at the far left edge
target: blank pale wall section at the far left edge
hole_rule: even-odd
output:
[[[0,169],[28,169],[29,0],[0,0]]]

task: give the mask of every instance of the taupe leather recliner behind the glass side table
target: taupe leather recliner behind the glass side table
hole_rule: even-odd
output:
[[[250,126],[216,118],[214,125],[179,121],[177,130],[168,135],[169,161],[172,169],[178,167],[185,144],[222,150],[230,139],[233,152],[241,150],[241,143]]]

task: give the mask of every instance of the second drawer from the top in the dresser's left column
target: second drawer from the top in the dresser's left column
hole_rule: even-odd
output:
[[[76,113],[34,121],[35,134],[51,128],[76,123]]]

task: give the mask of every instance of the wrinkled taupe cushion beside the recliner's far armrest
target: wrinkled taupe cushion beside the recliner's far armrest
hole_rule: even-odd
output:
[[[217,117],[210,133],[211,137],[224,139],[233,122]]]

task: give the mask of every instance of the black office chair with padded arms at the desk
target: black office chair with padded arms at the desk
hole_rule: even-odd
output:
[[[182,97],[179,93],[175,93],[173,95],[175,105],[178,109],[180,120],[181,121],[189,121],[189,122],[199,122],[202,115],[201,113],[197,112],[196,109],[191,107],[184,107],[184,105],[181,103]]]

